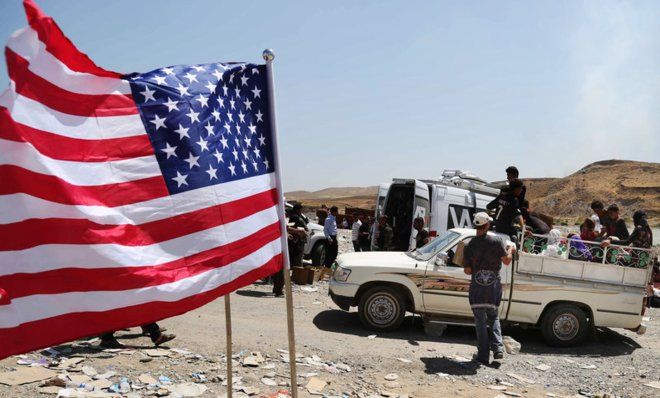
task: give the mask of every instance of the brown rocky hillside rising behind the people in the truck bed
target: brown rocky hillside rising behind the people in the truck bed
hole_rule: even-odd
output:
[[[531,206],[540,212],[581,217],[598,199],[616,203],[625,218],[645,209],[654,223],[660,222],[660,163],[604,160],[592,163],[563,178],[526,179]]]

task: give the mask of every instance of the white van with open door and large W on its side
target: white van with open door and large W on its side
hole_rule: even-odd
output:
[[[376,206],[376,216],[384,214],[393,229],[392,246],[396,251],[414,247],[417,231],[412,227],[417,217],[431,237],[452,228],[472,228],[472,216],[485,211],[500,190],[481,178],[462,170],[445,170],[437,180],[395,178],[388,188],[381,184],[377,203],[386,192],[385,201]],[[375,234],[372,237],[375,244]]]

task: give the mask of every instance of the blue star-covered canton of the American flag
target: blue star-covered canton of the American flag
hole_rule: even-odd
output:
[[[273,172],[266,66],[171,66],[130,78],[170,194]]]

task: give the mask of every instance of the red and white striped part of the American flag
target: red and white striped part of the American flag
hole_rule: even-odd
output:
[[[169,196],[128,81],[24,5],[0,96],[0,358],[178,315],[277,271],[276,176]]]

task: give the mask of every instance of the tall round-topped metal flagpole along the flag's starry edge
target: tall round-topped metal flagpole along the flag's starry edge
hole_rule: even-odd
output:
[[[287,332],[289,335],[289,366],[291,368],[291,396],[298,398],[298,375],[296,372],[296,338],[293,325],[293,296],[291,294],[291,274],[289,263],[289,245],[286,232],[286,220],[284,214],[284,191],[282,190],[282,168],[280,167],[279,144],[277,137],[277,120],[275,117],[275,84],[273,79],[273,60],[275,53],[271,49],[263,52],[266,61],[266,70],[268,72],[268,106],[270,111],[270,125],[273,137],[273,157],[275,161],[275,175],[277,176],[277,193],[279,203],[277,212],[280,218],[280,228],[282,232],[282,257],[284,259],[284,286],[286,289],[286,321]]]

